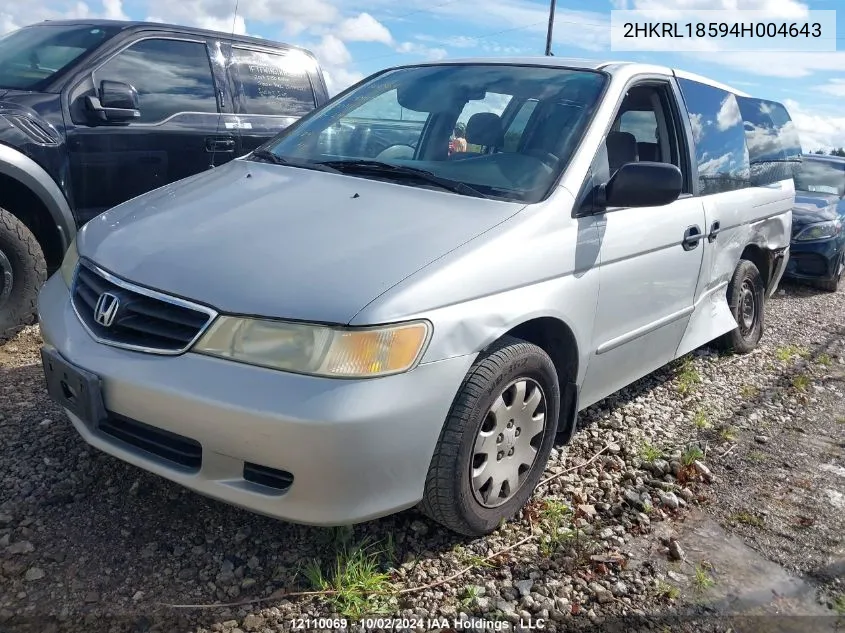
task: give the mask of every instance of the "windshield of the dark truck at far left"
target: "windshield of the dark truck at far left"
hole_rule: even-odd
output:
[[[0,88],[38,90],[119,27],[38,24],[0,37]]]

